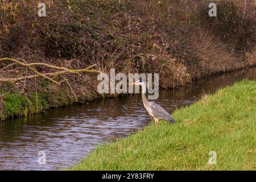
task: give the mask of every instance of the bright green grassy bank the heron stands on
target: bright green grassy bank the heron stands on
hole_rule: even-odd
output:
[[[96,147],[72,170],[253,170],[256,81],[243,80],[203,96],[137,134]],[[209,151],[217,164],[210,165]]]

